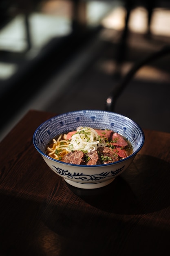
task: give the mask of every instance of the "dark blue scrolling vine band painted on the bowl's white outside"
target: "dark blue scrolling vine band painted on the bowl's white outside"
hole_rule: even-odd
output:
[[[117,169],[116,171],[111,171],[111,172],[102,172],[99,174],[95,174],[95,175],[87,175],[87,174],[83,174],[83,173],[73,173],[71,174],[69,171],[67,170],[63,170],[62,168],[58,168],[55,167],[53,165],[53,170],[55,172],[57,172],[60,175],[66,176],[67,178],[70,179],[76,179],[76,180],[82,180],[82,181],[99,181],[99,180],[103,180],[106,177],[114,177],[115,175],[117,175],[118,173],[120,173],[121,171],[123,171],[124,166],[122,166],[121,168]]]

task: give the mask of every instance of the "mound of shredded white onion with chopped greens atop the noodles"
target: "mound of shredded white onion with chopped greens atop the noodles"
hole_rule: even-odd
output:
[[[97,150],[98,146],[106,146],[104,140],[99,140],[99,135],[91,127],[78,127],[68,144],[68,150],[84,150],[88,153]]]

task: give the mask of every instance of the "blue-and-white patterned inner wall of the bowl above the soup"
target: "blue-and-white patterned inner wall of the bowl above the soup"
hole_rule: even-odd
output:
[[[75,130],[78,126],[114,130],[130,141],[135,153],[144,144],[143,130],[130,118],[103,110],[79,110],[57,115],[42,123],[33,135],[35,148],[45,155],[46,145],[53,137]]]

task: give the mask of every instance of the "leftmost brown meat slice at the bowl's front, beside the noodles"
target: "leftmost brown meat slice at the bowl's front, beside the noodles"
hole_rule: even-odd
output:
[[[86,164],[84,158],[86,157],[86,154],[84,154],[82,151],[75,150],[73,152],[70,152],[62,158],[62,162],[69,163],[69,164]]]

